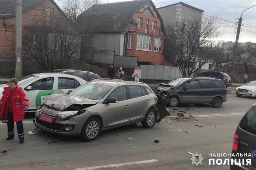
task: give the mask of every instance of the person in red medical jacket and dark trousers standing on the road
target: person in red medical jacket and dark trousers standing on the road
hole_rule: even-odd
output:
[[[26,97],[23,88],[18,87],[18,80],[12,78],[9,81],[10,86],[5,87],[3,96],[0,100],[0,119],[7,118],[8,138],[14,138],[14,122],[17,125],[18,137],[20,143],[24,142],[24,132],[22,120],[25,116],[25,110],[28,110],[29,100]]]

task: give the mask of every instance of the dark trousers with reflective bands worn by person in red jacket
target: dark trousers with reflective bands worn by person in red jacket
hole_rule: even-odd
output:
[[[8,137],[14,138],[14,121],[13,121],[13,113],[8,113],[7,115],[7,128],[8,128]],[[22,120],[19,122],[16,122],[17,125],[17,131],[18,131],[18,137],[19,140],[24,139],[24,130],[23,130],[23,123]]]

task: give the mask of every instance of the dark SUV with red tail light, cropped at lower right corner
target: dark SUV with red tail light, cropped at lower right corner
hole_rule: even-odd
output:
[[[233,150],[232,155],[236,156],[237,153],[241,155],[240,157],[231,157],[231,159],[236,159],[236,162],[241,163],[244,159],[245,164],[242,166],[233,165],[230,163],[230,169],[232,170],[242,170],[242,169],[256,169],[256,104],[254,104],[248,112],[243,116],[239,125],[236,128],[236,133],[234,135]],[[242,156],[243,155],[243,156]],[[246,165],[246,160],[251,160],[251,165]]]

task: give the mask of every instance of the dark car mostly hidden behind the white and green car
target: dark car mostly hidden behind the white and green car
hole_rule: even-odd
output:
[[[82,70],[72,70],[72,69],[58,69],[54,70],[55,73],[64,73],[64,74],[71,74],[73,76],[80,77],[81,79],[84,79],[86,82],[90,82],[94,79],[101,79],[100,76],[97,74],[94,74],[89,71],[82,71]]]

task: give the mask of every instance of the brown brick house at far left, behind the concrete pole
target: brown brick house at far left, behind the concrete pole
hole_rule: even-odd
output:
[[[51,22],[54,15],[64,15],[53,0],[22,0],[22,32],[27,36],[26,26],[35,19],[43,18],[45,24]],[[29,35],[30,45],[38,35]],[[0,58],[10,60],[15,55],[15,0],[0,0]]]

